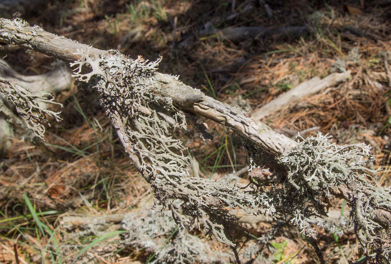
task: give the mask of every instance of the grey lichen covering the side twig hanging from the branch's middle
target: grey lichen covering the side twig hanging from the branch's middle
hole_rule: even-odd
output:
[[[248,207],[253,207],[251,194],[225,181],[188,177],[185,147],[181,140],[172,137],[169,124],[155,110],[156,104],[172,113],[182,127],[186,124],[185,115],[172,105],[170,98],[164,101],[166,105],[159,105],[162,100],[153,97],[150,90],[156,85],[154,72],[160,59],[148,63],[141,57],[133,60],[115,50],[92,59],[88,52],[88,48],[79,50],[80,59],[71,63],[76,66],[75,76],[81,81],[89,81],[94,75],[99,77],[95,88],[100,92],[101,104],[134,165],[154,189],[156,205],[163,205],[162,210],[170,208],[181,226],[198,219],[204,232],[235,246],[230,232],[237,217],[231,216],[226,208],[249,211]],[[83,65],[90,66],[92,71],[83,74]],[[173,199],[183,202],[174,205]],[[236,228],[244,232],[240,226]]]

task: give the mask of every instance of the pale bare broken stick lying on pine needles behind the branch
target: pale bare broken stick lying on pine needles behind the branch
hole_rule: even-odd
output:
[[[255,119],[262,119],[267,117],[271,115],[271,113],[287,105],[292,105],[298,102],[303,97],[318,93],[327,87],[334,86],[335,84],[348,79],[350,74],[350,70],[343,73],[332,73],[322,80],[316,76],[312,79],[309,79],[308,81],[305,81],[304,83],[299,84],[288,92],[283,93],[276,99],[256,110],[252,115]]]

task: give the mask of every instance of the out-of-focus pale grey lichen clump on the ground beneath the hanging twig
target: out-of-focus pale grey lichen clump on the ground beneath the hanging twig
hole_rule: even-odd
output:
[[[178,228],[169,211],[161,216],[154,211],[127,214],[122,228],[128,231],[122,236],[122,243],[154,254],[151,263],[210,263],[218,253],[211,254],[205,241]]]

